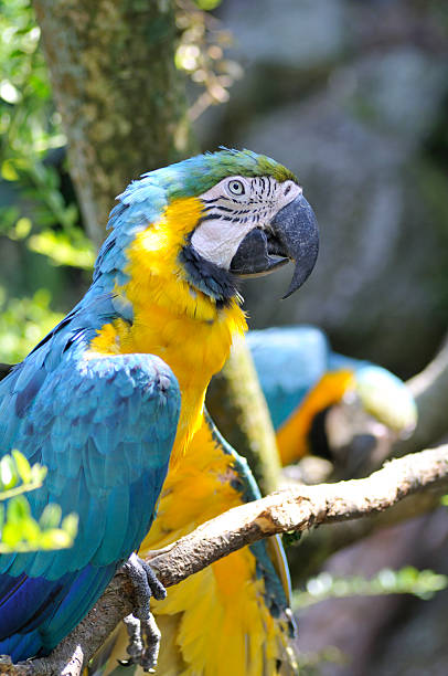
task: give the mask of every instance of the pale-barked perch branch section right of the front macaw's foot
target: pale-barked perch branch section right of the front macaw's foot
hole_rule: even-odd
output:
[[[448,445],[395,460],[364,479],[298,486],[235,507],[151,558],[167,587],[268,536],[384,511],[404,497],[448,480]]]

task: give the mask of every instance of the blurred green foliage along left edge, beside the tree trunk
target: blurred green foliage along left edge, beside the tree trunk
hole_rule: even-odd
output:
[[[0,279],[0,361],[6,362],[22,359],[62,317],[50,304],[56,292],[61,296],[56,285],[63,273],[43,272],[49,263],[86,270],[94,262],[93,245],[77,225],[77,207],[66,202],[58,171],[49,161],[55,154],[63,158],[66,139],[40,34],[30,0],[0,0],[0,252],[11,252],[12,261],[24,266],[12,276],[11,267],[0,267],[6,275],[3,287]],[[14,245],[2,245],[3,237]],[[28,287],[42,277],[50,288],[26,297],[23,277],[30,263]]]

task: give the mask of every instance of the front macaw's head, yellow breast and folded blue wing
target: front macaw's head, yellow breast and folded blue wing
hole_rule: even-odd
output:
[[[152,171],[118,200],[90,288],[0,383],[0,448],[49,468],[33,515],[55,501],[79,516],[72,549],[0,557],[0,653],[13,661],[46,655],[140,547],[246,329],[236,278],[294,260],[289,295],[317,256],[296,177],[248,150]]]

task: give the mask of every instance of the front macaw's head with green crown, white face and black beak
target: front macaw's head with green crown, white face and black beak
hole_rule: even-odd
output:
[[[128,243],[140,236],[140,250],[152,256],[151,274],[159,251],[171,273],[174,267],[178,278],[216,304],[236,295],[236,278],[294,261],[289,296],[314,266],[313,211],[297,178],[263,155],[200,155],[143,175],[118,199],[109,226]]]

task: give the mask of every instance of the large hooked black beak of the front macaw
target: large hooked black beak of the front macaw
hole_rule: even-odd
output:
[[[318,251],[318,222],[310,204],[300,194],[277,212],[268,228],[255,228],[244,237],[232,258],[231,272],[258,277],[294,261],[292,279],[284,296],[287,298],[308,279]]]

